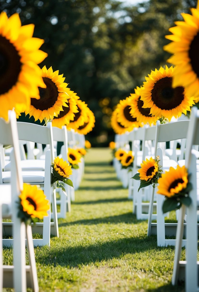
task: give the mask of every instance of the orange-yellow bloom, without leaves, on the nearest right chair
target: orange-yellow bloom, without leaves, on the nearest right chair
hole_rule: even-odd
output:
[[[158,179],[158,194],[166,197],[173,197],[183,189],[186,188],[188,183],[188,172],[185,166],[177,168],[170,167],[169,171],[165,171],[162,177]]]

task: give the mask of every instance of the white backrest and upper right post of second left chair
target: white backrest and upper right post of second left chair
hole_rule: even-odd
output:
[[[26,140],[40,144],[46,144],[50,147],[51,162],[55,159],[53,145],[52,123],[47,126],[40,126],[31,123],[17,122],[19,140]]]

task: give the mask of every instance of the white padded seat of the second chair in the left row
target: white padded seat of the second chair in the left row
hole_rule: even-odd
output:
[[[44,171],[22,171],[24,183],[44,183]],[[3,183],[11,183],[11,172],[3,171]]]

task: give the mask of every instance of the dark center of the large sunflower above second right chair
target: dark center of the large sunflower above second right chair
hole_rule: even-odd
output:
[[[151,99],[160,109],[174,109],[184,100],[184,87],[172,88],[172,77],[164,77],[154,84]]]

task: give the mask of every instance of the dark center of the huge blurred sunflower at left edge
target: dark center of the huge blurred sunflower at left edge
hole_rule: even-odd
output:
[[[0,36],[0,94],[8,92],[16,84],[22,66],[20,58],[15,46]]]

